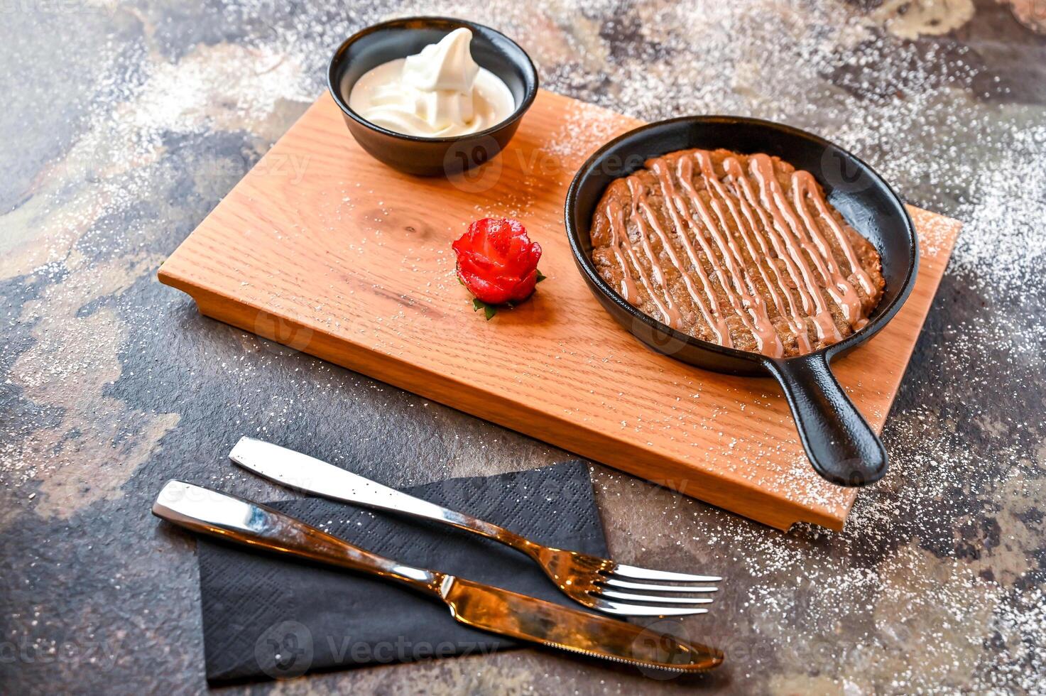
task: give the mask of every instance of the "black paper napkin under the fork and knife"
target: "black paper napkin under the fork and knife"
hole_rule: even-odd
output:
[[[541,543],[608,555],[584,462],[404,490]],[[528,558],[469,532],[320,498],[271,507],[403,563],[577,606]],[[457,623],[444,604],[388,580],[203,538],[199,559],[204,652],[213,682],[518,646]]]

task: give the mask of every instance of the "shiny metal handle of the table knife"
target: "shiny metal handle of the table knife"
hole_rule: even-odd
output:
[[[440,597],[444,574],[415,568],[363,551],[272,508],[210,489],[169,480],[153,514],[192,532],[255,548],[362,570]]]

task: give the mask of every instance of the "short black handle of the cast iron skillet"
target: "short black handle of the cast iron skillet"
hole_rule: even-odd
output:
[[[883,477],[883,443],[839,386],[823,352],[766,364],[784,389],[817,473],[840,486],[867,486]]]

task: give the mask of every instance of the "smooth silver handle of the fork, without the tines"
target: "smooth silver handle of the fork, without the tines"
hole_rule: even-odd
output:
[[[229,452],[229,458],[263,478],[287,488],[451,524],[500,541],[536,560],[543,548],[503,526],[415,498],[333,464],[262,440],[241,437]]]

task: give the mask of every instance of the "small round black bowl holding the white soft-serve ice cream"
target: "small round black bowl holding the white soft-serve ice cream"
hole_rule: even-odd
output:
[[[348,108],[348,94],[363,73],[417,53],[460,27],[472,30],[476,63],[501,77],[513,93],[516,110],[508,118],[470,135],[423,138],[374,126]],[[408,174],[453,175],[482,164],[508,144],[538,94],[538,71],[526,51],[500,31],[446,17],[409,17],[376,24],[345,40],[331,59],[327,88],[348,131],[370,155]]]

